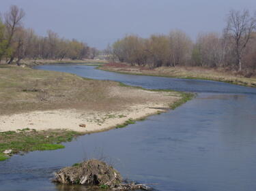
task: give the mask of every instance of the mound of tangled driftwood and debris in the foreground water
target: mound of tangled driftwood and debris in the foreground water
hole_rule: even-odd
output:
[[[100,160],[92,159],[63,168],[55,173],[53,180],[59,184],[81,184],[110,188],[111,190],[151,190],[144,184],[124,184],[120,173]]]

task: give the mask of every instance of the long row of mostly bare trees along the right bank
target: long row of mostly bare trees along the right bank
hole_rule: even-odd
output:
[[[223,34],[201,33],[193,42],[183,31],[142,38],[126,35],[115,41],[112,53],[120,62],[150,67],[226,67],[256,70],[256,14],[231,10]]]

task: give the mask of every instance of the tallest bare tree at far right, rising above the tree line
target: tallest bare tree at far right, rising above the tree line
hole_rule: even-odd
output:
[[[239,71],[242,70],[242,56],[244,50],[255,29],[256,18],[253,18],[248,10],[244,10],[242,13],[235,10],[229,12],[225,37],[233,42],[236,52],[236,65],[238,65]]]

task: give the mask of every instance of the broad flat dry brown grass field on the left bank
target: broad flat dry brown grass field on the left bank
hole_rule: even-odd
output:
[[[122,109],[136,98],[111,95],[117,82],[85,80],[69,73],[0,65],[0,115],[48,109]]]

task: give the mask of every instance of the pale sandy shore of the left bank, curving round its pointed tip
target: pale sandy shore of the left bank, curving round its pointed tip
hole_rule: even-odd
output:
[[[110,94],[110,96],[123,99],[126,97],[136,99],[139,95],[141,103],[126,105],[117,111],[53,109],[2,115],[0,116],[0,132],[16,131],[22,128],[33,128],[37,131],[66,129],[85,133],[104,131],[130,119],[137,120],[166,111],[171,104],[181,99],[176,92],[154,92],[130,87],[115,87]],[[86,127],[81,127],[79,124],[85,124]]]

